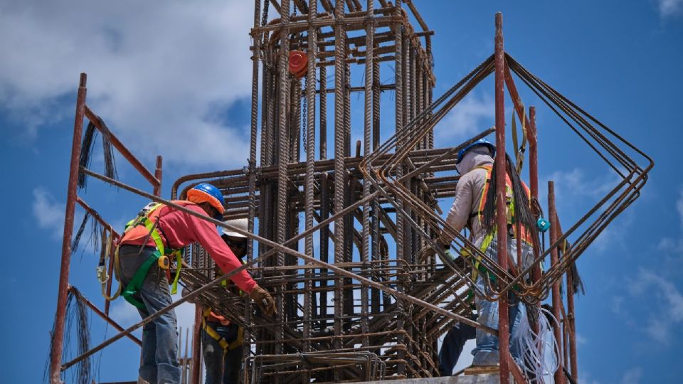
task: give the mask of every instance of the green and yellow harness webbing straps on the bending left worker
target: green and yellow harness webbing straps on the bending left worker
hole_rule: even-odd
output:
[[[154,262],[159,262],[159,257],[166,255],[164,241],[162,240],[162,236],[159,234],[159,230],[157,229],[157,223],[159,222],[159,219],[157,218],[156,222],[152,222],[152,220],[149,220],[148,217],[148,215],[154,212],[154,210],[157,210],[161,207],[162,204],[156,204],[152,206],[149,210],[147,210],[147,212],[144,212],[143,208],[141,214],[139,214],[137,218],[130,220],[126,224],[126,232],[130,228],[137,227],[137,225],[144,225],[144,228],[147,228],[147,230],[149,230],[149,236],[152,238],[152,240],[154,240],[154,245],[157,245],[157,250],[155,250],[154,253],[151,256],[149,256],[149,258],[147,258],[147,260],[144,260],[142,265],[140,265],[137,271],[135,271],[133,278],[126,285],[124,292],[122,292],[121,294],[121,296],[124,299],[126,299],[127,302],[133,304],[134,306],[137,306],[137,308],[139,309],[146,308],[142,302],[134,298],[134,295],[140,291],[140,287],[142,287],[142,282],[144,282],[145,277],[147,277],[147,274],[149,273],[149,268],[152,267]],[[171,250],[171,252],[169,252],[168,255],[176,255],[176,275],[174,276],[173,283],[171,284],[171,294],[176,294],[176,292],[178,292],[178,280],[180,279],[180,270],[183,265],[182,254],[180,250]]]

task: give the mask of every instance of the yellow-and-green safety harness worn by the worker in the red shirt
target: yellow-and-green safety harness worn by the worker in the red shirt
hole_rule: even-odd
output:
[[[139,225],[143,225],[144,228],[147,228],[147,237],[151,237],[154,241],[154,245],[157,246],[157,249],[154,250],[152,255],[150,255],[147,260],[142,263],[142,265],[140,265],[133,275],[133,278],[121,292],[121,296],[126,299],[127,302],[137,306],[139,309],[145,309],[145,306],[144,303],[135,298],[135,295],[140,291],[140,287],[142,287],[142,283],[144,282],[145,277],[147,277],[149,269],[156,262],[157,265],[159,265],[159,268],[166,270],[166,274],[168,274],[170,267],[169,256],[176,257],[176,274],[173,279],[173,283],[171,284],[171,294],[178,292],[178,279],[180,278],[180,270],[182,267],[182,252],[181,250],[171,248],[166,250],[166,247],[164,247],[164,241],[162,240],[162,235],[159,233],[159,228],[157,225],[159,223],[160,208],[163,206],[164,205],[161,203],[147,204],[147,206],[140,210],[136,218],[130,220],[126,224],[126,229],[124,231],[125,236],[125,234],[129,233],[129,231],[137,228]],[[120,245],[117,246],[116,249],[116,258],[118,258],[119,247]]]

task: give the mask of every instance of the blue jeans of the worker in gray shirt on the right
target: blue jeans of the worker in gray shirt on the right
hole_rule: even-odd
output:
[[[492,260],[498,260],[497,247],[498,241],[494,238],[485,252]],[[517,260],[517,242],[514,238],[508,238],[507,240],[507,252],[509,252],[509,255],[513,256],[515,261]],[[533,260],[533,249],[530,245],[522,243],[522,262],[524,263],[524,266],[528,266],[531,260]],[[485,274],[480,272],[477,276],[476,284],[482,291],[485,291],[484,279]],[[498,301],[489,302],[481,297],[475,296],[475,305],[477,306],[477,313],[479,314],[477,323],[492,329],[498,329]],[[509,306],[509,329],[511,335],[514,335],[517,331],[517,326],[523,316],[526,316],[524,304],[517,302],[516,304]],[[512,358],[514,358],[515,361],[519,361],[521,346],[517,345],[512,338],[510,353],[512,353]],[[472,350],[472,355],[474,355],[474,358],[472,359],[473,366],[492,366],[499,363],[498,336],[477,329],[477,346]]]

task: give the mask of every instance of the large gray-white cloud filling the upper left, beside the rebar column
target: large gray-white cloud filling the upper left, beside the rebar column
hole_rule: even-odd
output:
[[[243,165],[245,129],[221,118],[250,95],[253,2],[0,0],[0,105],[28,136],[88,105],[143,159]]]

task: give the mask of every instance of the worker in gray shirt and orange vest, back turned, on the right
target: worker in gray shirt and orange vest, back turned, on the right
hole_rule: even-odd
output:
[[[457,154],[456,169],[460,173],[460,179],[455,189],[455,201],[453,202],[446,222],[456,231],[462,228],[470,229],[470,240],[491,260],[497,262],[497,225],[495,215],[495,191],[499,182],[495,177],[494,167],[495,146],[486,139],[477,140],[466,146]],[[514,169],[514,164],[506,156],[507,177],[506,206],[507,228],[502,228],[508,235],[507,251],[512,260],[517,260],[517,236],[521,237],[522,260],[526,267],[533,259],[531,239],[535,233],[533,216],[529,213],[529,189],[519,180],[519,175]],[[517,233],[517,221],[521,230]],[[444,231],[440,235],[440,246],[448,249],[453,235]],[[480,265],[477,260],[472,260],[475,270],[472,271],[472,279],[480,291],[487,292],[492,275]],[[524,306],[518,301],[512,300],[509,307],[510,331],[514,332],[521,319]],[[475,295],[477,309],[477,322],[492,329],[498,328],[498,302],[489,302],[479,295]],[[472,351],[474,355],[473,366],[496,366],[499,363],[498,337],[477,329],[477,347]],[[443,348],[450,348],[444,346]],[[519,346],[511,343],[512,356],[519,358]]]

